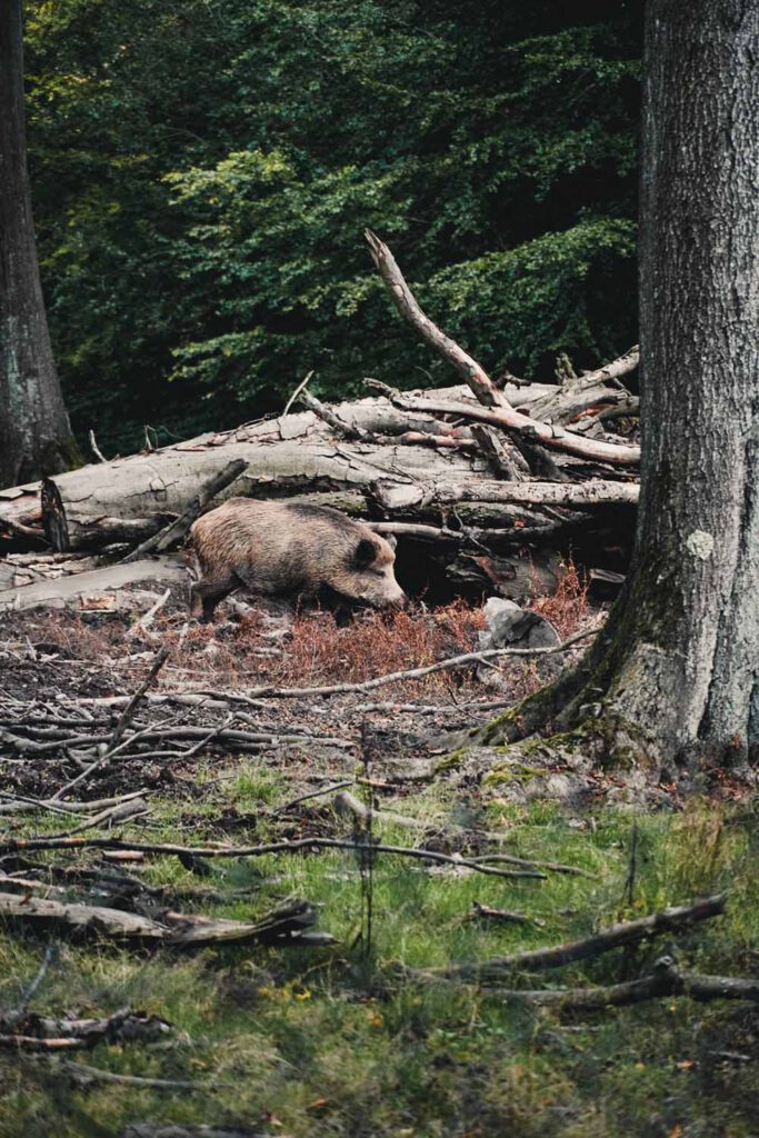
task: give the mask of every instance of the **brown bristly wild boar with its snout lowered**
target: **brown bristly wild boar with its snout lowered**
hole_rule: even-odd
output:
[[[328,588],[378,609],[407,603],[394,545],[328,506],[230,498],[195,522],[190,541],[200,574],[191,612],[204,621],[241,585],[270,596]]]

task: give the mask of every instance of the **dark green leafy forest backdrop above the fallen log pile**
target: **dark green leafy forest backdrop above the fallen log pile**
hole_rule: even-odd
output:
[[[30,163],[74,429],[113,454],[365,376],[444,384],[364,226],[493,372],[636,339],[642,0],[26,5]]]

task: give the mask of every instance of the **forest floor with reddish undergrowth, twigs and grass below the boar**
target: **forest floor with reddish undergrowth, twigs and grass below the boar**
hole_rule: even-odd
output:
[[[563,636],[599,619],[571,575],[535,607]],[[114,938],[102,914],[73,927],[58,912],[42,927],[22,907],[0,931],[1,1138],[759,1135],[756,1004],[684,993],[587,1011],[512,995],[633,981],[663,955],[700,974],[756,976],[750,787],[711,772],[683,801],[635,773],[560,770],[539,750],[512,764],[451,742],[539,685],[545,663],[234,699],[262,685],[361,684],[476,650],[482,613],[461,602],[344,626],[254,609],[195,627],[172,597],[141,630],[143,608],[3,618],[0,893],[162,927],[181,913],[191,929],[258,921],[297,899],[314,923],[296,921],[290,943],[275,933],[155,947]],[[151,701],[112,756],[124,708],[113,701],[139,687],[162,645],[171,654]],[[198,698],[160,702],[167,692]],[[97,739],[99,766],[82,758]],[[67,811],[108,795],[139,809]],[[377,811],[370,824],[356,799]],[[378,842],[401,852],[370,852]],[[167,844],[206,852],[156,849]],[[488,983],[465,967],[434,973],[721,891],[713,921],[551,971],[513,963]],[[151,1019],[125,1030],[123,1009]],[[108,1016],[72,1044],[74,1020]]]

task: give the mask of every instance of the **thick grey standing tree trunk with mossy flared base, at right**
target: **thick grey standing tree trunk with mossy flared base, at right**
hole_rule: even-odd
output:
[[[488,741],[550,719],[612,762],[759,751],[758,58],[756,3],[650,0],[633,569],[580,669]]]

